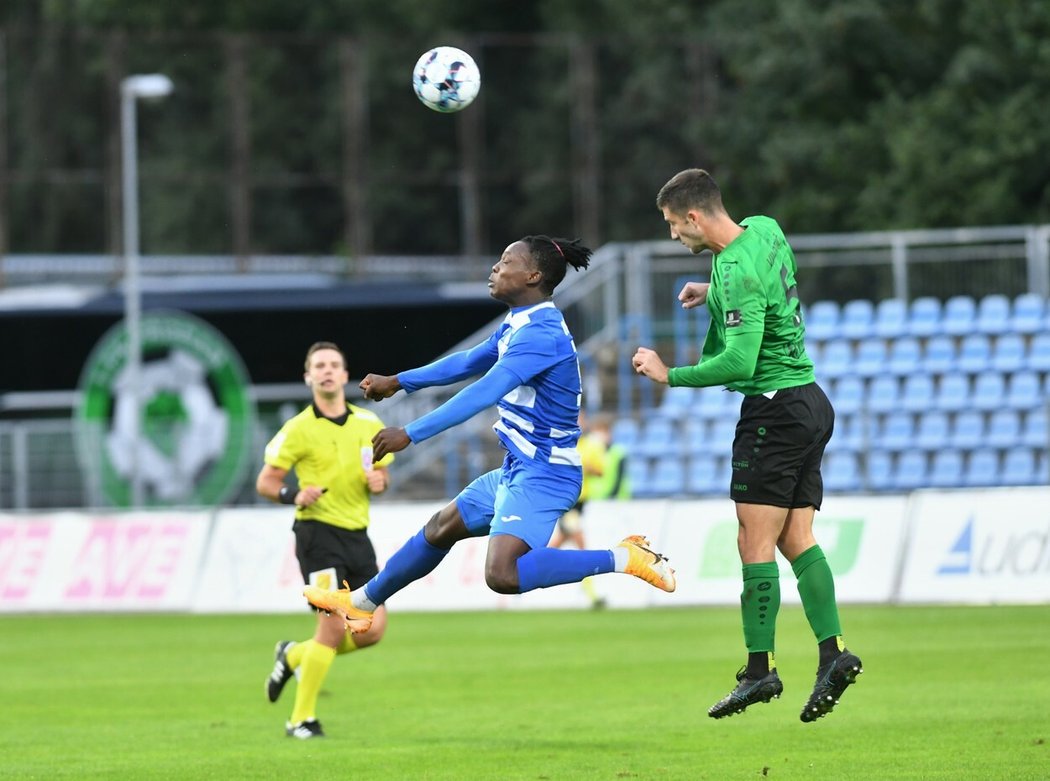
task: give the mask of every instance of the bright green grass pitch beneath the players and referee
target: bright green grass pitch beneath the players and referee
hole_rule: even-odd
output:
[[[813,724],[816,648],[778,622],[784,695],[714,721],[727,608],[402,613],[338,657],[286,738],[277,639],[301,615],[0,617],[3,779],[1048,779],[1050,606],[842,609],[864,674]]]

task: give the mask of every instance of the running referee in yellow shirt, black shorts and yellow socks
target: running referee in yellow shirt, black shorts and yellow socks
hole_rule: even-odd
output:
[[[372,438],[383,423],[372,411],[348,403],[346,360],[333,342],[316,342],[307,351],[307,385],[313,403],[290,419],[266,447],[265,465],[255,481],[259,495],[295,506],[295,555],[311,586],[351,589],[363,586],[379,569],[369,540],[369,505],[386,490],[386,466],[393,455],[372,463]],[[295,468],[298,487],[286,485]],[[368,632],[351,633],[343,619],[317,613],[314,636],[295,642],[280,640],[274,649],[267,697],[276,702],[295,675],[295,705],[285,731],[308,740],[324,736],[317,720],[317,695],[337,654],[374,646],[386,629],[380,607]]]

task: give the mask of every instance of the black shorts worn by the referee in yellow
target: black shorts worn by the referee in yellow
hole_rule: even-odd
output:
[[[296,521],[292,531],[295,557],[308,584],[338,589],[345,581],[351,589],[358,589],[379,572],[376,549],[363,529],[351,531],[321,521]]]

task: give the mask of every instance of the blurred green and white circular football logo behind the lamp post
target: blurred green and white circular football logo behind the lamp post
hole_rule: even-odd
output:
[[[118,507],[131,505],[136,477],[147,505],[225,502],[251,464],[255,431],[240,356],[184,313],[149,312],[140,323],[138,440],[124,321],[106,332],[81,373],[74,415],[88,484],[99,503]]]

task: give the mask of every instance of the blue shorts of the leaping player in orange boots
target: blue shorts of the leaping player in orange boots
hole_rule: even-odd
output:
[[[554,526],[580,498],[583,471],[551,468],[507,453],[500,469],[485,472],[456,498],[474,536],[510,534],[530,548],[545,548]]]

